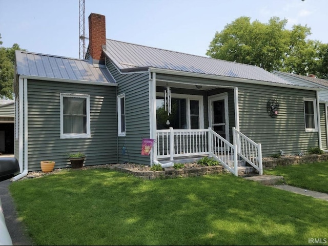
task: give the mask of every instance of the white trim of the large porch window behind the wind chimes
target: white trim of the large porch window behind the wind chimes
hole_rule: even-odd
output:
[[[156,97],[164,97],[164,92],[156,92]],[[191,129],[190,122],[190,100],[199,101],[199,129],[204,129],[204,99],[201,95],[188,95],[188,94],[171,94],[171,98],[183,98],[186,99],[187,103],[187,127]],[[156,100],[155,100],[156,101]]]

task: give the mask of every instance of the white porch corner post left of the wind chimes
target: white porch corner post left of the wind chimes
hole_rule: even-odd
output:
[[[152,76],[151,76],[152,75]],[[150,166],[157,160],[157,139],[156,139],[156,73],[149,72],[149,129],[150,138],[155,139],[152,153],[150,155]]]

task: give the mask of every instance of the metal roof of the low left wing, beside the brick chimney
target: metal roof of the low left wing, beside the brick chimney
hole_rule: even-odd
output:
[[[50,79],[79,80],[99,83],[116,83],[103,65],[93,65],[87,60],[32,53],[16,50],[18,75]]]

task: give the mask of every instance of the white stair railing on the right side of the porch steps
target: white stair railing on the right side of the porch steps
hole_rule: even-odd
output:
[[[237,145],[238,155],[250,163],[255,169],[259,171],[259,174],[263,174],[262,167],[262,148],[261,144],[256,144],[253,140],[232,128],[233,142]]]

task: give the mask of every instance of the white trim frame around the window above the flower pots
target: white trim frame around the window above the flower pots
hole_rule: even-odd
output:
[[[63,108],[63,97],[80,97],[87,99],[87,133],[69,133],[64,134],[64,108]],[[71,93],[60,93],[60,138],[90,138],[90,95],[84,94],[71,94]]]

